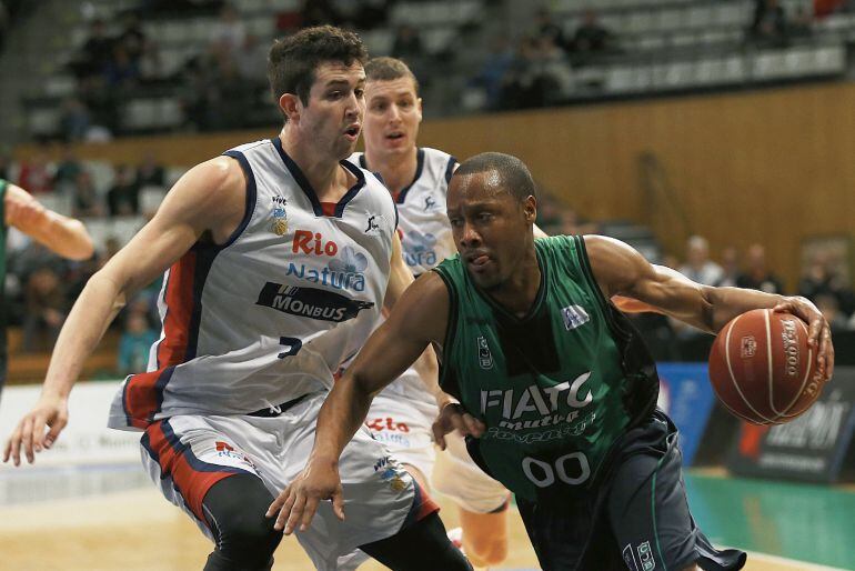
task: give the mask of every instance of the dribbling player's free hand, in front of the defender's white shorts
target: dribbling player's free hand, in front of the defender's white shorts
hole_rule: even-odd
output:
[[[338,462],[309,459],[303,471],[273,500],[264,515],[272,518],[278,513],[273,529],[284,529],[285,535],[290,535],[298,525],[300,531],[309,529],[323,500],[332,500],[332,511],[343,521],[344,498]]]

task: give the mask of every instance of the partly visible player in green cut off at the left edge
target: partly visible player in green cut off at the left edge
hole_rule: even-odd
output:
[[[21,187],[0,179],[0,390],[6,383],[6,234],[14,227],[49,250],[71,260],[86,260],[93,253],[92,239],[79,220],[48,210]]]

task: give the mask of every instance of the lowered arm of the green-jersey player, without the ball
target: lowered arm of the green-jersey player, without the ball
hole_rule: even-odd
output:
[[[326,499],[344,519],[339,457],[364,422],[371,400],[396,379],[432,342],[445,335],[449,293],[428,272],[404,291],[389,319],[369,338],[355,361],[333,385],[318,415],[314,449],[303,471],[270,504],[274,528],[290,534],[305,530]]]

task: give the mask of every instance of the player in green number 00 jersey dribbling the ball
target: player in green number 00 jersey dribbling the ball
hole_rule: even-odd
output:
[[[336,462],[373,394],[429,343],[441,349],[440,443],[467,433],[482,468],[516,494],[545,571],[741,569],[695,524],[677,431],[656,409],[653,360],[613,294],[708,332],[756,308],[809,323],[821,380],[834,368],[828,323],[804,298],[694,283],[613,239],[535,240],[525,166],[479,154],[454,173],[447,213],[460,252],[404,293],[321,410],[305,470],[271,504],[289,532],[332,499]],[[474,438],[477,437],[477,438]]]

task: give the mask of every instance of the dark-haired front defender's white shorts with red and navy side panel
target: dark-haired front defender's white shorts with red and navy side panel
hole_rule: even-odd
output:
[[[142,463],[163,495],[211,538],[201,505],[208,490],[233,473],[252,473],[278,495],[305,467],[325,397],[309,395],[274,418],[180,415],[155,422],[141,441]],[[408,515],[435,509],[364,428],[344,448],[339,473],[348,519],[339,521],[332,504],[322,502],[311,528],[295,532],[319,570],[336,569],[340,555],[395,534]]]

